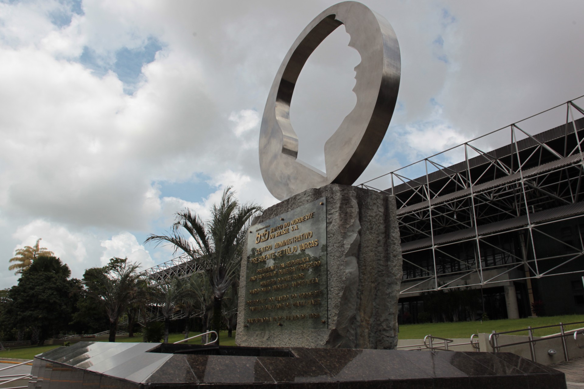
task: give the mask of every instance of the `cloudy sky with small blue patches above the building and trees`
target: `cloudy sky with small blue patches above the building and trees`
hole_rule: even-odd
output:
[[[333,3],[0,0],[0,288],[39,237],[77,277],[113,256],[147,268],[172,258],[148,234],[185,207],[206,215],[226,185],[274,204],[258,163],[267,93]],[[357,184],[584,94],[581,0],[366,5],[394,27],[402,78]],[[348,42],[340,26],[317,48],[291,106],[299,157],[322,170],[356,101]]]

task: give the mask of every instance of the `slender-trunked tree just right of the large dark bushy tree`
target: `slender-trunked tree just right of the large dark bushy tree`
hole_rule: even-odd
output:
[[[103,304],[109,319],[109,341],[116,341],[117,323],[126,306],[140,288],[140,265],[128,263],[127,258],[112,258],[110,264],[103,268],[93,268],[94,275],[85,283],[85,287],[94,299]]]

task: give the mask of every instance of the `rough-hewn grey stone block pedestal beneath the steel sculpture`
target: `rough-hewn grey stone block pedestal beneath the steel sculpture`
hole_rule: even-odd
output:
[[[309,212],[310,209],[309,211],[305,209],[311,203],[317,205],[325,203],[326,207],[326,240],[321,239],[325,241],[326,246],[326,268],[318,269],[321,277],[319,288],[324,291],[319,303],[326,304],[326,306],[321,306],[325,312],[325,316],[321,316],[322,325],[316,325],[314,320],[310,321],[308,318],[294,323],[285,320],[280,322],[280,319],[276,320],[274,316],[276,311],[270,310],[270,314],[266,313],[266,316],[274,316],[274,321],[270,319],[270,323],[262,323],[259,327],[254,327],[255,323],[246,319],[246,315],[250,316],[246,310],[249,310],[251,306],[250,288],[255,288],[252,284],[259,285],[259,283],[257,281],[253,283],[250,274],[256,274],[256,272],[260,274],[263,269],[256,269],[258,264],[253,262],[254,271],[248,272],[248,264],[252,266],[250,257],[255,255],[249,255],[248,252],[248,258],[246,260],[244,257],[241,266],[239,315],[235,339],[237,345],[395,348],[398,339],[397,303],[402,278],[395,198],[388,194],[350,185],[331,184],[310,189],[266,209],[261,216],[253,220],[253,225],[247,234],[248,239],[256,239],[257,235],[256,240],[259,240],[266,221],[272,220],[269,224],[271,228],[274,228],[276,222],[273,220],[293,217],[296,215],[293,212],[296,209],[303,211],[298,211],[299,214]],[[315,209],[318,216],[321,209]],[[324,208],[322,212],[325,212]],[[286,218],[280,217],[281,215],[285,215]],[[275,243],[279,239],[280,237],[277,237],[265,243],[272,241]],[[276,250],[273,246],[270,247]],[[262,254],[266,253],[262,252]],[[270,253],[268,257],[269,255]],[[268,261],[262,266],[267,269],[274,263],[277,264],[277,258],[276,262]],[[281,266],[284,267],[284,265]],[[322,280],[325,275],[326,284]],[[279,277],[279,275],[274,277]],[[284,293],[292,296],[293,290],[281,293],[282,296],[288,296]],[[260,296],[262,293],[253,295],[252,298]],[[253,301],[257,302],[258,299]],[[276,306],[269,307],[271,309]],[[294,313],[291,306],[290,309],[282,307],[279,311],[282,318],[291,317],[286,316],[290,313]],[[318,323],[321,323],[321,320],[318,320]]]

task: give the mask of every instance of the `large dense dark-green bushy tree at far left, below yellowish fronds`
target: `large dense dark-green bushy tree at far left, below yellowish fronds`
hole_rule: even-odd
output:
[[[6,313],[15,323],[36,328],[39,345],[71,321],[81,283],[68,279],[70,275],[71,270],[59,258],[39,257],[9,292],[12,302]]]

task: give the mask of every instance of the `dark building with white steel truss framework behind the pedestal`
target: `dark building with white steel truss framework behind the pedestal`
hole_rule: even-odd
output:
[[[457,288],[480,289],[490,318],[584,313],[583,97],[360,185],[397,198],[402,320]],[[179,257],[145,273],[195,270]]]

